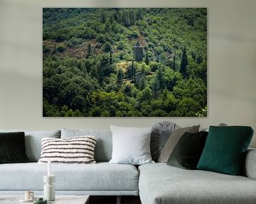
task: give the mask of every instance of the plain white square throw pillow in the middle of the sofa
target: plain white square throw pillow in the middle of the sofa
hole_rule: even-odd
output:
[[[150,154],[151,128],[124,128],[110,125],[112,132],[112,159],[114,164],[154,163]]]

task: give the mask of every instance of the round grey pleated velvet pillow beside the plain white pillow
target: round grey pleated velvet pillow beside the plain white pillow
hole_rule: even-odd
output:
[[[164,148],[171,132],[176,128],[179,128],[179,126],[168,121],[156,123],[152,126],[150,151],[154,162],[158,161],[161,150]]]

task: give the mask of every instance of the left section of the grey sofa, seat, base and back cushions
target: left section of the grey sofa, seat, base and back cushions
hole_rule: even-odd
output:
[[[16,132],[16,130],[11,130]],[[10,130],[0,130],[10,132]],[[52,164],[55,174],[56,194],[138,196],[139,171],[136,166],[109,164],[112,157],[112,133],[110,131],[54,130],[24,131],[26,154],[29,163],[0,164],[0,195],[17,194],[33,190],[43,193],[43,175],[47,164],[38,164],[43,137],[68,138],[95,135],[95,159],[97,164]]]

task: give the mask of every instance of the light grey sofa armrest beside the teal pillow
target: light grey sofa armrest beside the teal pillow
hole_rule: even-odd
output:
[[[244,176],[256,179],[256,149],[248,149],[246,152]]]

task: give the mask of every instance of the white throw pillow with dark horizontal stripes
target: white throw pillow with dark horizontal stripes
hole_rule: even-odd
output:
[[[65,139],[43,138],[41,158],[38,163],[53,164],[95,164],[95,136],[72,137]]]

